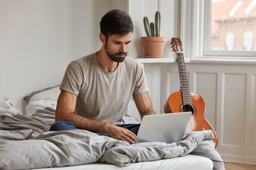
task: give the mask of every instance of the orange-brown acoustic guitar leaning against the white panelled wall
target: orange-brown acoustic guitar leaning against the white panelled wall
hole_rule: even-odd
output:
[[[215,144],[216,148],[218,139],[213,127],[205,118],[204,99],[198,94],[189,92],[189,83],[186,74],[182,42],[180,41],[180,38],[171,39],[171,49],[177,55],[181,90],[171,94],[168,97],[168,100],[164,106],[164,112],[178,113],[191,111],[192,115],[186,131],[212,130],[214,134],[214,139],[212,139],[212,142]]]

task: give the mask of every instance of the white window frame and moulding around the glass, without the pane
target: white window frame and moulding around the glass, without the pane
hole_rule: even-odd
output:
[[[211,0],[182,0],[181,8],[181,40],[185,57],[191,61],[233,60],[256,63],[256,51],[210,50]]]

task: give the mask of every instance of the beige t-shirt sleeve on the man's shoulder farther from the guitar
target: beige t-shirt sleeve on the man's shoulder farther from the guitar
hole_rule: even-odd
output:
[[[60,89],[65,90],[74,95],[78,95],[83,82],[83,71],[81,66],[73,61],[65,71]]]

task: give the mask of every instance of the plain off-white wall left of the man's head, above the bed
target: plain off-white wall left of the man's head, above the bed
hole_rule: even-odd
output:
[[[0,99],[61,83],[69,62],[97,51],[107,0],[0,0]]]

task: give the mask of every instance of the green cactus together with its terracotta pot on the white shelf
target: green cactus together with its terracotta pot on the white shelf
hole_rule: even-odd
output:
[[[162,58],[162,51],[164,49],[165,37],[160,37],[160,22],[161,15],[159,11],[155,13],[155,24],[151,22],[149,24],[148,18],[143,18],[144,29],[147,37],[141,37],[144,57],[145,58]]]

